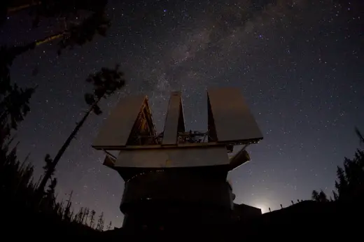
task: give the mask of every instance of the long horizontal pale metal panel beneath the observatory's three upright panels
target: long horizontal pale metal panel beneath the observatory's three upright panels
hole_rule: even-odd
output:
[[[229,164],[225,146],[123,150],[115,167],[193,167]]]

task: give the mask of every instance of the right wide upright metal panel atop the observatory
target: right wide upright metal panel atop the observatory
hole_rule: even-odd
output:
[[[262,133],[238,89],[208,90],[218,141],[244,141],[262,138]]]

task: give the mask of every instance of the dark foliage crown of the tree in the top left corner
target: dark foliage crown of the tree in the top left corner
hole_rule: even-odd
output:
[[[107,2],[107,0],[47,0],[38,1],[38,3],[29,1],[28,4],[22,6],[11,6],[9,1],[9,3],[2,4],[0,9],[0,24],[5,22],[6,15],[26,8],[32,8],[29,13],[33,13],[30,16],[33,18],[33,28],[38,27],[39,22],[47,18],[63,22],[64,29],[59,33],[27,44],[34,48],[60,38],[58,50],[60,53],[64,48],[72,48],[73,45],[83,45],[92,41],[96,34],[106,36],[106,30],[111,25],[105,14]]]

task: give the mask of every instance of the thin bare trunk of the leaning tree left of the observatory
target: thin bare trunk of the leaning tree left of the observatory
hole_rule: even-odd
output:
[[[55,156],[55,159],[53,159],[53,162],[51,164],[50,169],[48,169],[48,171],[45,172],[44,177],[43,177],[43,180],[41,181],[41,184],[38,187],[38,191],[41,192],[41,194],[43,194],[45,185],[47,185],[48,180],[52,176],[52,171],[55,170],[55,166],[57,166],[57,164],[59,162],[59,159],[61,159],[64,151],[66,151],[66,149],[69,147],[69,144],[71,143],[71,141],[73,140],[73,138],[75,138],[76,134],[80,130],[80,127],[82,127],[82,125],[85,123],[87,117],[92,113],[92,110],[94,109],[94,106],[97,106],[97,104],[99,104],[99,101],[101,99],[102,99],[102,97],[100,97],[99,99],[97,99],[97,101],[95,101],[94,104],[92,104],[92,106],[90,107],[90,109],[83,116],[82,120],[80,120],[80,122],[78,122],[76,128],[73,129],[73,131],[71,132],[71,134],[69,135],[69,137],[66,139],[66,141],[64,142],[64,144],[62,145],[62,147],[58,150],[57,155]]]

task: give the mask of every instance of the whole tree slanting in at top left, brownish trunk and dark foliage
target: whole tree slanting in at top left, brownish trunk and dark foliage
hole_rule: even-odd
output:
[[[18,46],[1,46],[0,48],[0,87],[10,83],[10,66],[13,60],[28,50],[36,48],[43,43],[59,39],[58,55],[66,48],[73,48],[74,45],[84,45],[92,41],[92,38],[99,34],[106,36],[106,31],[111,22],[105,14],[107,0],[86,1],[86,0],[44,0],[23,3],[20,6],[13,6],[9,0],[1,1],[1,20],[6,20],[8,13],[31,8],[31,15],[34,15],[33,26],[38,26],[41,18],[55,19],[57,22],[64,22],[62,31],[50,34],[31,43]],[[10,8],[12,7],[12,8]],[[87,13],[84,13],[87,12]],[[82,13],[82,14],[81,14]],[[81,16],[82,15],[82,16]],[[8,80],[7,82],[3,82]],[[0,88],[0,92],[3,88]]]

